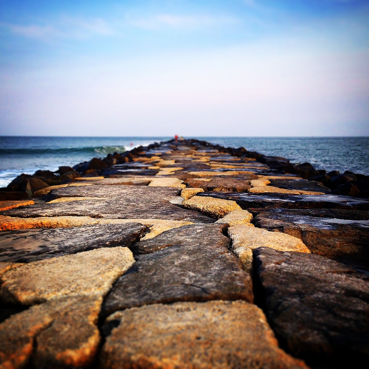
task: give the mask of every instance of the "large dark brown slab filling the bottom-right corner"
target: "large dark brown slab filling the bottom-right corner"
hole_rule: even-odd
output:
[[[254,258],[266,316],[290,352],[330,367],[367,357],[367,274],[299,252],[259,248]]]

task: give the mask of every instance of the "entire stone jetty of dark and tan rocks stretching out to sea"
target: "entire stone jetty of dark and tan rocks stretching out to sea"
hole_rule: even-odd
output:
[[[197,140],[0,190],[0,368],[358,368],[369,177]]]

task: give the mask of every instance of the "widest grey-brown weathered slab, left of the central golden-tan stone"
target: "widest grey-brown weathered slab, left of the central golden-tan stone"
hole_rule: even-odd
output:
[[[50,199],[94,197],[59,203],[38,203],[27,209],[12,209],[2,213],[12,217],[87,216],[93,218],[156,218],[211,222],[197,211],[176,206],[183,198],[180,188],[151,186],[93,185],[63,187],[51,191]]]

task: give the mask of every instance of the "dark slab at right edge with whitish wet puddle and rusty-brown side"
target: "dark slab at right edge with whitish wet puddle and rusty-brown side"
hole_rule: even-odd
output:
[[[268,209],[258,211],[255,224],[300,238],[314,254],[369,269],[368,211]]]

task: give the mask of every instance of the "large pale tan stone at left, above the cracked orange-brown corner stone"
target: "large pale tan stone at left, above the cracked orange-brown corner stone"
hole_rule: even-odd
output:
[[[30,305],[64,296],[104,296],[134,262],[132,252],[118,246],[28,263],[1,277],[0,299]]]

